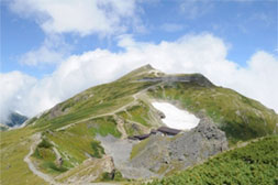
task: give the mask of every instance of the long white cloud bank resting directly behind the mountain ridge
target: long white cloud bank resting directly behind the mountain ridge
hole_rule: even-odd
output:
[[[278,59],[271,54],[256,52],[247,67],[241,67],[226,58],[227,45],[211,34],[186,35],[159,44],[136,42],[131,35],[124,35],[119,45],[124,51],[96,50],[71,56],[40,80],[22,74],[3,74],[15,79],[1,79],[1,87],[12,84],[16,88],[7,88],[0,106],[5,109],[5,105],[12,105],[22,113],[34,116],[86,88],[152,64],[166,73],[202,73],[214,84],[233,88],[278,111]],[[19,96],[21,101],[16,99]]]

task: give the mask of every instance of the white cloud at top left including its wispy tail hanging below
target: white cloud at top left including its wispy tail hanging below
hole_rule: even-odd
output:
[[[146,32],[136,0],[11,0],[5,3],[12,12],[34,20],[46,34],[41,46],[19,58],[21,64],[31,66],[65,59],[70,51],[62,39],[65,33],[110,37],[130,30]]]

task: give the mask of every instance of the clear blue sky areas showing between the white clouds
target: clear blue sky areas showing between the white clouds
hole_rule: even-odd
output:
[[[121,34],[133,34],[136,41],[159,43],[175,41],[188,33],[209,32],[230,44],[227,58],[245,65],[249,56],[264,50],[277,54],[277,1],[154,1],[140,3],[138,17],[143,31],[129,28]],[[194,11],[196,10],[196,11]],[[36,50],[47,36],[37,20],[11,11],[8,2],[1,4],[1,70],[21,70],[41,78],[55,65],[27,66],[19,58]],[[77,33],[59,34],[71,50],[68,55],[96,48],[118,51],[116,36]]]

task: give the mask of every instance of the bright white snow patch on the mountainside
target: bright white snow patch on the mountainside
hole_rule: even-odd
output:
[[[152,102],[154,108],[166,116],[163,122],[173,129],[190,130],[198,126],[200,119],[186,110],[178,109],[168,102]]]

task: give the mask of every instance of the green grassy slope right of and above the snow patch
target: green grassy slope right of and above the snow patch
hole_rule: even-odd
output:
[[[273,110],[227,88],[176,83],[148,94],[157,99],[179,101],[193,113],[204,110],[226,132],[231,142],[271,134],[278,122]]]

